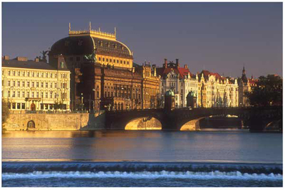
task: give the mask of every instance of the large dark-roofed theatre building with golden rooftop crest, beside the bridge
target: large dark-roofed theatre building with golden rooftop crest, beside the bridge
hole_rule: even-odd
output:
[[[71,31],[51,46],[49,63],[62,55],[71,71],[71,109],[129,110],[157,106],[160,78],[150,64],[133,63],[133,52],[115,33]]]

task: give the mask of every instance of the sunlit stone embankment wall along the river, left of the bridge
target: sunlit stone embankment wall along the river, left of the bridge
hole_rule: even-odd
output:
[[[34,127],[28,127],[32,122]],[[4,123],[6,130],[103,130],[105,114],[56,113],[31,114],[13,113]]]

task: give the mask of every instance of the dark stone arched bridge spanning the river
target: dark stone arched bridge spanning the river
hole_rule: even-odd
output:
[[[251,130],[264,130],[271,122],[282,120],[283,107],[226,107],[226,108],[180,108],[172,111],[163,109],[107,111],[105,128],[107,130],[125,130],[130,123],[138,119],[155,118],[162,130],[198,130],[197,122],[214,115],[235,115],[243,120]]]

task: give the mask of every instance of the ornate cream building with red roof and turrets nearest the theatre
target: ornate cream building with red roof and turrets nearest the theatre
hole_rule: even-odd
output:
[[[160,75],[161,100],[164,100],[167,90],[172,90],[175,94],[175,107],[186,107],[186,97],[190,91],[198,93],[198,76],[192,75],[187,65],[180,68],[179,59],[176,59],[176,63],[167,63],[165,59],[162,68],[157,68],[157,75]]]

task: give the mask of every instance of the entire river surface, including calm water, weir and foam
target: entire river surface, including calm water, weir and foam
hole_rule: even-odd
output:
[[[2,186],[282,186],[282,134],[2,133]]]

